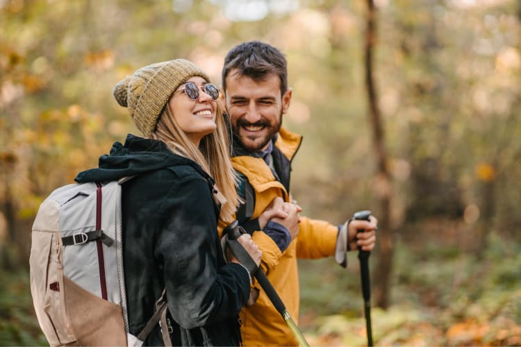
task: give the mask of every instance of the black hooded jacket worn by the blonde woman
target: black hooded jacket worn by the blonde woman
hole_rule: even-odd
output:
[[[240,344],[238,313],[249,296],[249,278],[242,266],[222,257],[213,179],[163,142],[128,135],[124,146],[116,142],[110,155],[100,157],[98,169],[75,180],[124,176],[135,176],[122,187],[130,332],[142,330],[166,286],[173,344]],[[145,344],[163,344],[158,327]]]

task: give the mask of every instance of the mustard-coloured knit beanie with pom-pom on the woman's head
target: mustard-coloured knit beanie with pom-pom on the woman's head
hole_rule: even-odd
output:
[[[208,75],[188,60],[157,62],[126,76],[115,85],[113,94],[119,105],[129,108],[135,126],[149,137],[174,90],[193,76],[210,83]]]

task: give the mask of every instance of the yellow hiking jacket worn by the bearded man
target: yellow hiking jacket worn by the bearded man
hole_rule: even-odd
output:
[[[279,150],[288,159],[287,175],[289,178],[290,161],[300,146],[301,136],[281,128],[275,142],[274,151]],[[249,155],[235,156],[231,159],[233,167],[249,180],[255,192],[253,218],[257,218],[276,196],[290,201],[290,194],[282,183],[277,181],[262,158]],[[261,248],[263,257],[261,268],[268,280],[286,305],[286,310],[298,323],[299,317],[299,278],[297,258],[320,258],[335,254],[338,227],[326,221],[301,217],[299,235],[281,253],[275,242],[263,231],[252,235],[254,242]],[[245,346],[297,346],[281,314],[261,289],[256,303],[244,307],[240,312],[241,332]]]

